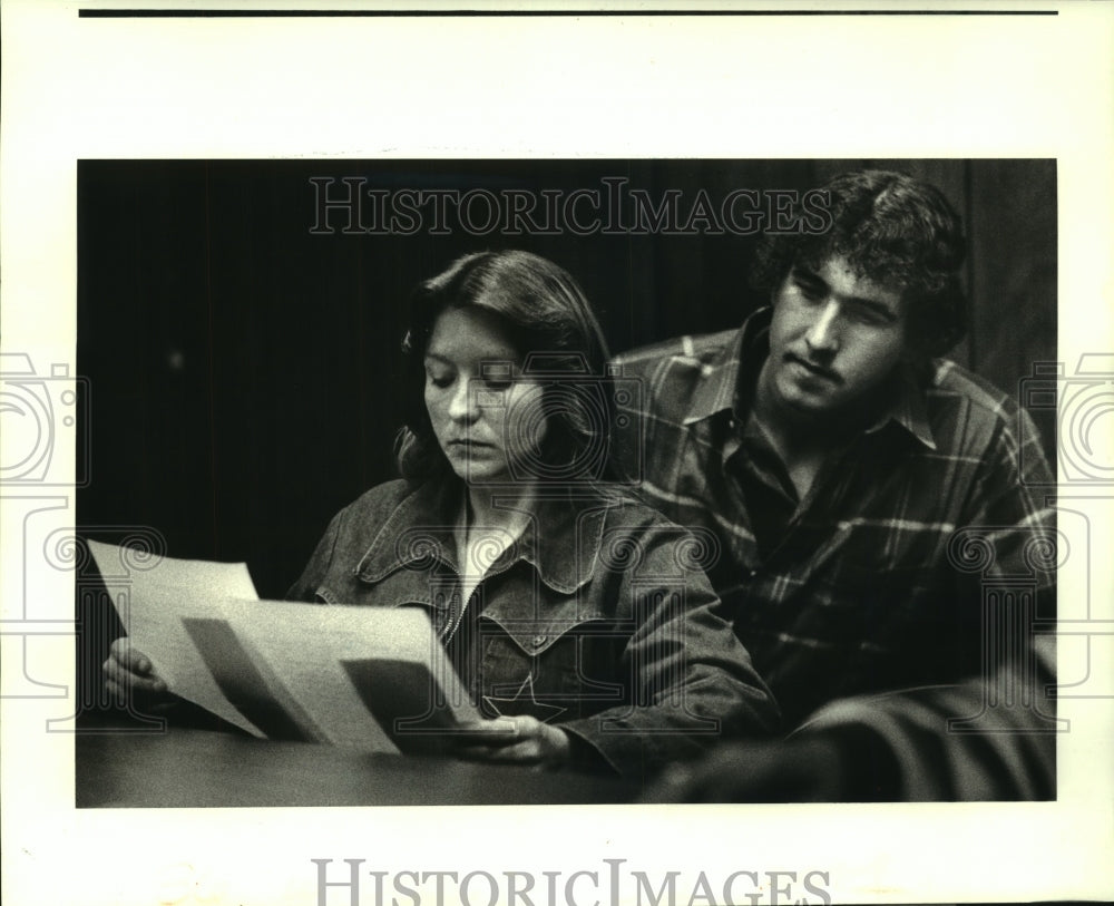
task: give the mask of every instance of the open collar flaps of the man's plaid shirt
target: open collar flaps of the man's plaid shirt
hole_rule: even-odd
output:
[[[720,412],[731,412],[739,417],[741,423],[745,421],[759,369],[770,354],[772,314],[773,309],[769,305],[751,314],[739,329],[735,339],[703,367],[685,425],[704,421]],[[864,433],[880,431],[890,422],[899,425],[929,449],[936,449],[936,439],[925,409],[922,382],[905,368],[896,392]]]

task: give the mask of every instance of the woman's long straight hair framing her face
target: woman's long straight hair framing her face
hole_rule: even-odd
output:
[[[524,374],[543,386],[547,431],[536,460],[517,464],[511,480],[593,483],[609,471],[613,391],[605,376],[607,344],[577,282],[529,252],[479,252],[457,259],[414,291],[402,340],[403,427],[395,442],[402,476],[411,481],[451,469],[429,421],[424,355],[433,324],[449,309],[495,314],[522,354]]]

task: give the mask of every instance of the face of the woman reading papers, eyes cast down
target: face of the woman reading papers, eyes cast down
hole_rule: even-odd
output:
[[[447,309],[426,348],[426,409],[452,470],[469,484],[528,478],[516,468],[546,436],[541,388],[485,309]]]

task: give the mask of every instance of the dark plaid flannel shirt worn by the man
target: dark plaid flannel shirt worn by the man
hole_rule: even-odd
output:
[[[991,675],[995,651],[1032,640],[1027,617],[1024,639],[1000,636],[1009,620],[993,607],[986,630],[985,597],[1054,618],[1054,487],[1028,415],[936,360],[925,382],[895,381],[798,500],[747,430],[769,323],[764,309],[740,330],[618,357],[641,384],[619,407],[620,465],[717,546],[712,583],[789,725],[844,696]]]

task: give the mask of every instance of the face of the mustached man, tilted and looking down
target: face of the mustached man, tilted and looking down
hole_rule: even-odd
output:
[[[858,276],[836,255],[795,265],[773,296],[760,400],[771,412],[828,418],[867,401],[901,361],[901,293]]]

